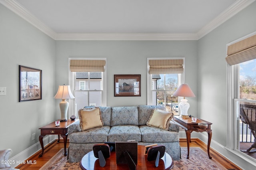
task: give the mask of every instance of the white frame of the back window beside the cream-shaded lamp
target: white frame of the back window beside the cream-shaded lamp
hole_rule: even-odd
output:
[[[75,91],[75,87],[76,87],[76,82],[75,82],[75,73],[70,71],[70,60],[105,60],[106,61],[106,65],[105,65],[105,70],[102,73],[102,106],[107,106],[107,59],[106,58],[68,58],[68,83],[70,85],[70,89],[73,91],[73,95],[75,96],[76,93],[74,93]],[[76,97],[76,96],[75,96]],[[68,108],[68,117],[70,117],[71,115],[76,115],[77,116],[77,109],[76,109],[76,104],[75,104],[75,100],[73,99],[73,101],[68,101],[69,102],[69,108]]]

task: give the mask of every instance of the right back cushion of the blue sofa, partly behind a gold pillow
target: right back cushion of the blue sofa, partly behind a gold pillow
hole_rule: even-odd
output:
[[[165,111],[165,107],[163,105],[150,106],[150,105],[139,105],[138,106],[138,114],[139,114],[139,126],[146,125],[150,115],[152,114],[152,109],[160,109]]]

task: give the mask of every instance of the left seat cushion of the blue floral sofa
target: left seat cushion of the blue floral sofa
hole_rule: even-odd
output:
[[[108,141],[109,126],[68,134],[70,143],[98,143]]]

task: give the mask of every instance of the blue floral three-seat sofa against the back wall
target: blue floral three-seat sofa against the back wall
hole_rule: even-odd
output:
[[[82,129],[80,117],[79,121],[68,128],[68,162],[79,162],[86,153],[92,150],[94,144],[127,140],[135,140],[138,145],[144,146],[162,144],[174,160],[181,158],[178,125],[170,119],[168,119],[168,129],[147,125],[153,111],[156,109],[164,111],[164,106],[139,105],[98,108],[101,112],[102,126]],[[173,113],[171,114],[173,117]],[[88,123],[90,124],[90,122]]]

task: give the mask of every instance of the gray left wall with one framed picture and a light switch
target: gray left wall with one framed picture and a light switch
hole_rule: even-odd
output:
[[[42,70],[42,100],[18,102],[19,65]],[[55,117],[55,41],[0,4],[0,150],[16,154],[36,142]],[[32,141],[32,133],[36,139]]]

